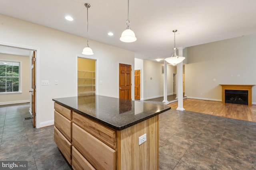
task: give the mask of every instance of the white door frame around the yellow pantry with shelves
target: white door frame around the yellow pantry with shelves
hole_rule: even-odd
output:
[[[77,60],[78,57],[80,58],[84,58],[84,59],[91,59],[91,60],[95,60],[95,94],[98,95],[98,91],[99,91],[99,87],[98,87],[98,80],[99,80],[99,75],[98,75],[98,69],[99,69],[99,62],[98,62],[98,58],[96,57],[90,57],[88,55],[76,55],[76,94],[77,94]]]

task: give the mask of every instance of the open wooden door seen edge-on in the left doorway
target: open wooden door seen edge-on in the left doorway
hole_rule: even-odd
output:
[[[33,127],[36,127],[36,52],[33,51],[32,56],[32,66],[31,66],[31,72],[32,72],[32,84],[31,84],[31,98],[32,98],[32,123]]]

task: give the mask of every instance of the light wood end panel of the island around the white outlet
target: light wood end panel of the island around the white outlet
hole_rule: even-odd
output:
[[[158,170],[158,115],[120,131],[119,170]]]

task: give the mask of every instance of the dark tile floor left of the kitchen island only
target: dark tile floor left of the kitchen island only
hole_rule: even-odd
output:
[[[32,127],[29,104],[0,106],[0,160],[26,160],[29,170],[70,170],[53,140],[54,126]]]

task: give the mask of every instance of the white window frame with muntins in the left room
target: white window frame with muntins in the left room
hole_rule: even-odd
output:
[[[22,67],[22,61],[15,61],[15,60],[6,60],[6,59],[0,59],[0,62],[10,62],[10,63],[18,63],[19,64],[19,76],[0,76],[0,78],[18,78],[19,79],[19,86],[18,86],[18,91],[17,92],[0,92],[0,95],[3,95],[3,94],[19,94],[19,93],[22,93],[22,74],[21,74],[21,67]],[[12,66],[14,66],[12,64]],[[12,90],[13,90],[13,87],[12,87]]]

